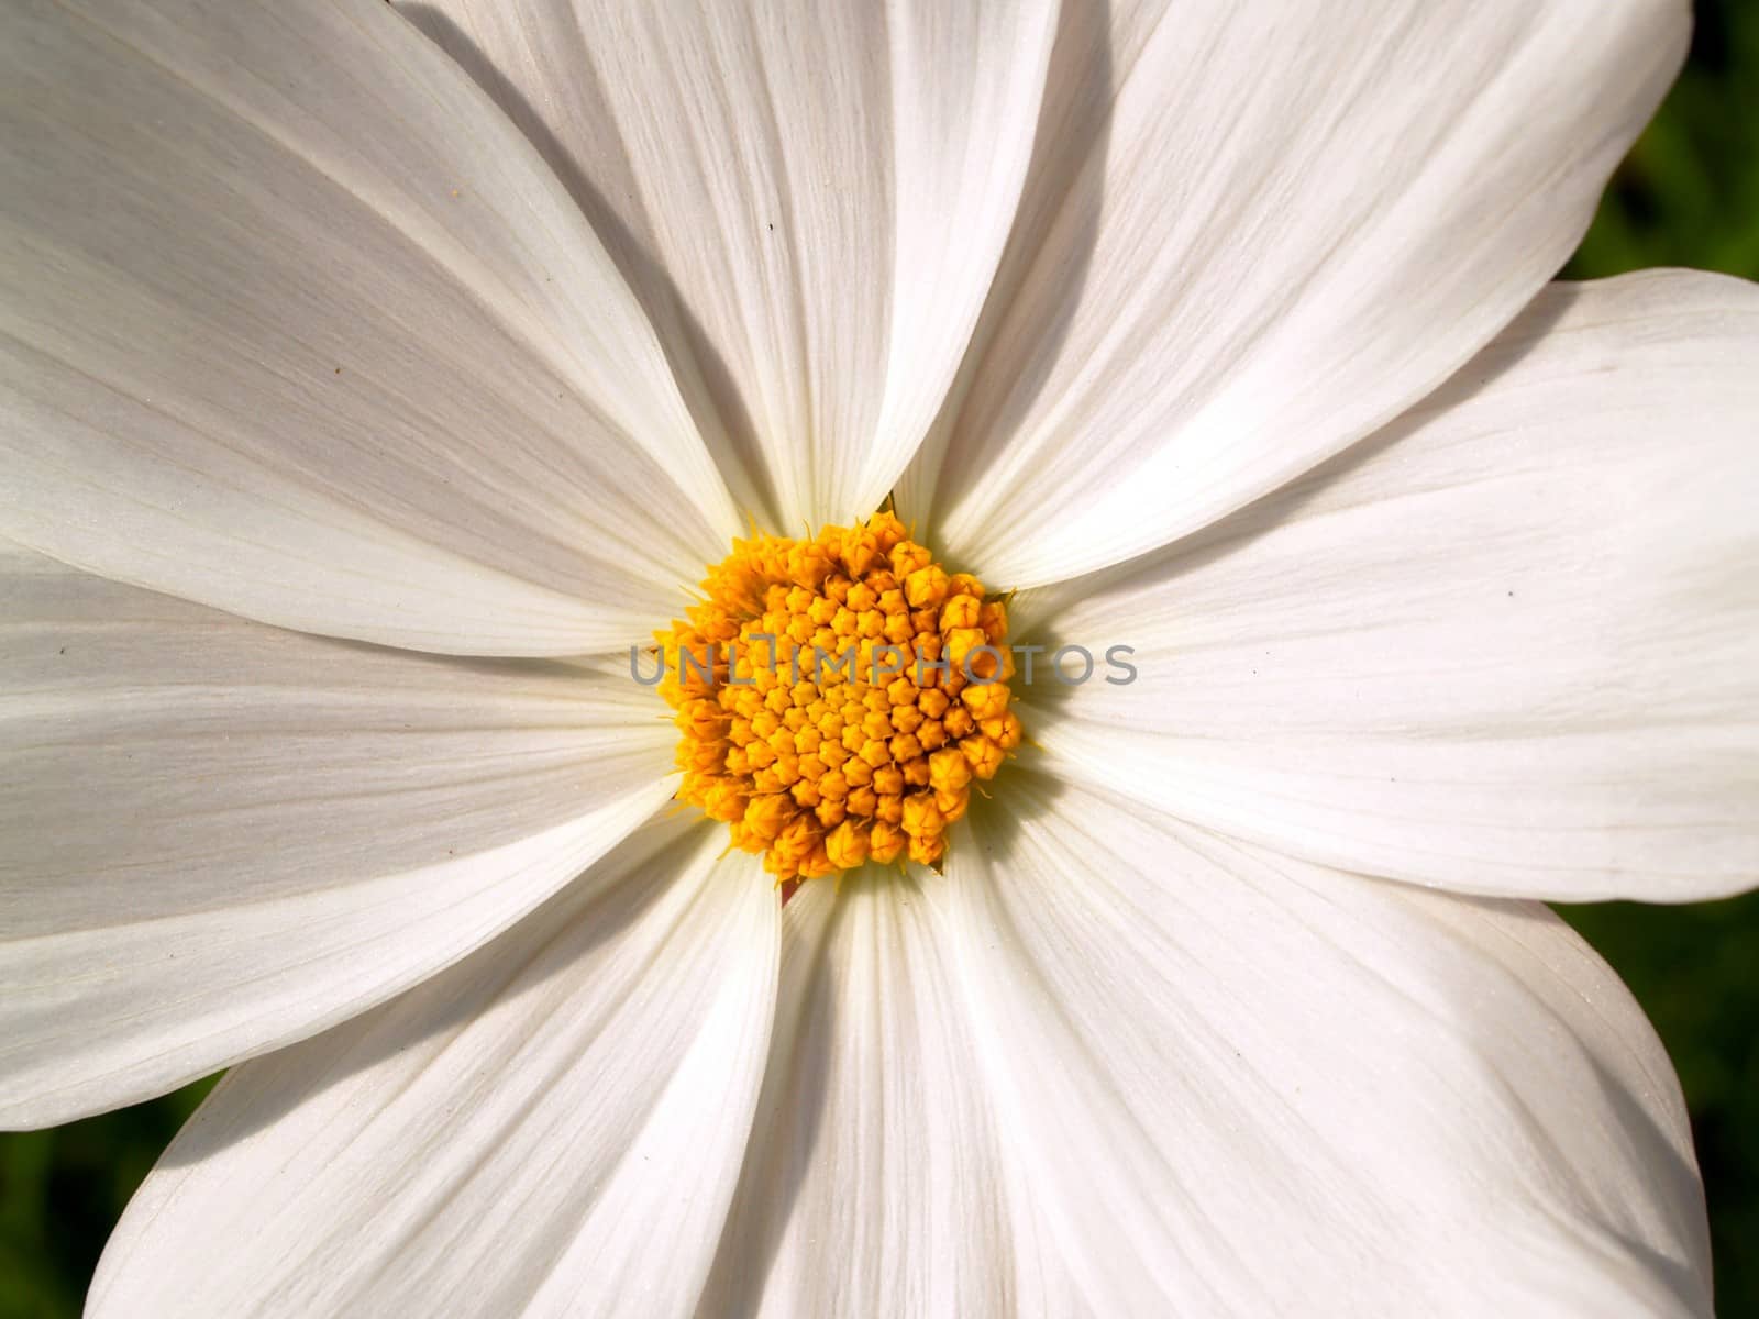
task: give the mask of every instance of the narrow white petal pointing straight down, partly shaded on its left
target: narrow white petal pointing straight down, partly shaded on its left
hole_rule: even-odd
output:
[[[925,893],[895,872],[804,885],[700,1314],[1075,1314],[980,1082]]]

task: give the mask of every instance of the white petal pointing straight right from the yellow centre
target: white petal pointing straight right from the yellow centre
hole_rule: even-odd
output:
[[[1061,772],[1351,871],[1581,900],[1750,886],[1754,362],[1754,285],[1553,287],[1358,452],[1048,591],[1078,601],[1055,633],[1135,645],[1140,679],[1034,688],[1034,737]]]

